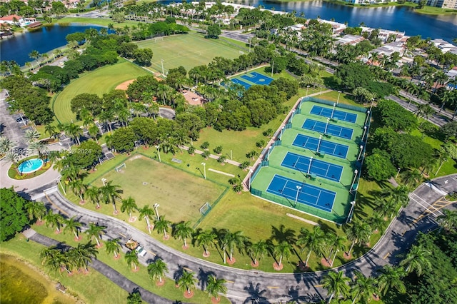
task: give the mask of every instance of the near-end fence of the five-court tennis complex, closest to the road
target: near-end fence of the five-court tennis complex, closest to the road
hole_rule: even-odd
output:
[[[251,194],[253,196],[258,196],[259,198],[263,198],[267,201],[271,201],[273,203],[278,203],[286,207],[294,208],[293,205],[295,205],[295,202],[287,199],[287,198],[282,198],[281,196],[275,196],[271,193],[267,193],[264,191],[260,191],[258,189],[251,188]],[[345,223],[346,221],[346,216],[338,216],[333,213],[328,213],[319,210],[318,208],[312,208],[310,206],[306,206],[305,204],[297,204],[297,206],[294,208],[298,211],[308,213],[311,216],[317,216],[318,218],[323,218],[324,220],[331,221],[334,223],[342,224]]]

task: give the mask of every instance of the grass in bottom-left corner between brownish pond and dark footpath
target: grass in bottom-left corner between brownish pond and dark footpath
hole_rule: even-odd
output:
[[[46,285],[46,288],[54,288],[52,285],[59,281],[67,288],[67,293],[78,297],[85,303],[125,303],[128,293],[95,270],[91,270],[87,275],[73,275],[71,277],[49,271],[41,265],[41,260],[39,258],[39,254],[43,248],[43,245],[33,241],[26,241],[26,238],[23,235],[17,235],[12,240],[1,243],[0,252],[13,255],[20,260],[24,260],[28,264],[34,265],[35,269],[42,275],[41,278],[39,278],[39,281]],[[31,275],[30,272],[27,272],[27,274]],[[3,284],[1,293],[2,295],[4,293]],[[45,303],[69,302],[70,301],[49,301]],[[1,303],[4,303],[3,300]],[[19,302],[15,301],[14,303]]]

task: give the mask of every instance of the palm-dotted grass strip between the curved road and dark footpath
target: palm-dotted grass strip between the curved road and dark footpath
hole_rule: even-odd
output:
[[[74,241],[74,235],[71,234],[64,234],[61,233],[59,235],[56,235],[54,233],[54,229],[52,228],[46,228],[46,226],[34,226],[33,227],[37,232],[44,234],[46,236],[49,236],[50,238],[54,238],[56,240],[59,240],[61,242],[65,242],[67,245],[71,246],[76,246],[78,243]],[[86,242],[86,239],[82,240],[81,242]],[[156,295],[161,295],[164,298],[168,298],[171,300],[177,300],[177,301],[184,301],[186,303],[211,303],[211,300],[209,296],[201,291],[199,288],[196,288],[195,290],[195,295],[191,299],[185,299],[183,292],[179,290],[178,288],[175,287],[174,280],[171,280],[169,278],[166,278],[166,283],[162,287],[156,286],[155,283],[151,281],[149,278],[149,274],[147,272],[147,268],[144,265],[139,265],[139,271],[134,273],[131,268],[129,268],[129,265],[127,265],[126,261],[124,260],[124,253],[121,253],[121,258],[119,260],[114,260],[113,255],[108,255],[106,254],[105,247],[99,248],[99,254],[97,255],[97,259],[100,260],[103,263],[106,263],[106,265],[109,265],[111,268],[114,268],[117,270],[119,273],[124,275],[126,278],[131,280],[132,282],[140,285],[142,288],[145,288],[152,293],[155,293]],[[195,271],[198,271],[197,269]],[[90,273],[96,273],[94,270],[91,270]],[[173,275],[173,273],[170,273],[170,275]],[[62,275],[65,276],[65,275]],[[74,275],[72,278],[77,278],[77,277],[86,277],[86,275]],[[107,279],[106,279],[107,280]],[[198,286],[197,286],[198,287]],[[94,293],[96,295],[96,293]],[[121,301],[116,301],[112,302],[109,301],[108,299],[104,299],[103,303],[125,303],[125,298]],[[93,303],[89,301],[89,303]],[[226,298],[222,298],[221,303],[228,304],[229,300]]]

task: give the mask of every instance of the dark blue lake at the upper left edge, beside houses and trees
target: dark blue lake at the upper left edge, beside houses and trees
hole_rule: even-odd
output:
[[[79,26],[75,24],[41,26],[39,29],[26,31],[24,34],[16,34],[14,37],[1,40],[0,60],[15,60],[19,66],[24,66],[26,62],[34,61],[29,57],[31,51],[39,51],[39,54],[47,53],[64,46],[66,35],[91,28],[99,30],[101,26]]]

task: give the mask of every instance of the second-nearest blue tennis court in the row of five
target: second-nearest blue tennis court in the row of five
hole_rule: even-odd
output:
[[[287,152],[286,156],[284,156],[281,166],[306,174],[316,174],[316,176],[321,176],[331,181],[340,181],[341,173],[343,173],[342,166],[333,165],[333,163],[327,163],[326,161],[319,161],[316,158],[311,160],[309,157],[291,152]]]

